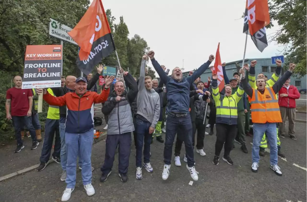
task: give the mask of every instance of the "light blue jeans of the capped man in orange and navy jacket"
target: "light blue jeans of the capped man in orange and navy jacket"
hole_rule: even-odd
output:
[[[77,157],[82,159],[82,181],[83,185],[90,184],[92,182],[92,164],[91,154],[93,145],[94,129],[76,134],[65,133],[65,143],[67,152],[67,165],[66,165],[66,188],[74,188],[76,185],[76,169],[77,169]]]

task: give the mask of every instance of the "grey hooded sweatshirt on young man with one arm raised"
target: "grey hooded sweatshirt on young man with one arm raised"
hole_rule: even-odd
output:
[[[148,120],[151,123],[151,127],[156,128],[160,117],[160,96],[154,89],[146,89],[145,64],[146,60],[142,59],[138,82],[137,114]]]

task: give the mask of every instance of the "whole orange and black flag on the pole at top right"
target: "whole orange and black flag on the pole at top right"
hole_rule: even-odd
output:
[[[268,42],[265,26],[270,24],[269,6],[266,0],[246,0],[243,33],[251,35],[251,39],[259,51],[263,51]]]

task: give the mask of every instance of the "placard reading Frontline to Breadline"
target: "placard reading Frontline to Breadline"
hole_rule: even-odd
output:
[[[61,87],[62,45],[27,45],[22,89]]]

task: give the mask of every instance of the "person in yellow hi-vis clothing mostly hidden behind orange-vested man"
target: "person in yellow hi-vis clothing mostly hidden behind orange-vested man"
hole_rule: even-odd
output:
[[[257,89],[256,76],[255,76],[255,73],[256,73],[255,72],[255,66],[256,66],[256,64],[257,64],[257,60],[251,61],[251,69],[249,70],[249,74],[248,74],[248,83],[254,89]],[[272,87],[277,82],[277,80],[279,78],[279,75],[280,75],[281,70],[282,70],[282,61],[276,60],[276,65],[277,65],[277,67],[275,69],[275,72],[272,74],[272,76],[269,80],[266,80],[267,77],[262,73],[258,74],[258,76],[257,76],[257,78],[265,78],[266,87]],[[285,157],[285,155],[282,154],[281,151],[280,151],[281,147],[280,147],[280,140],[279,140],[279,137],[278,137],[278,129],[277,129],[277,146],[278,146],[278,156]],[[267,144],[267,141],[266,141],[266,134],[263,134],[263,137],[262,137],[262,140],[261,140],[261,143],[260,143],[259,155],[265,156],[264,149],[267,148],[267,147],[268,147],[268,144]]]

